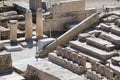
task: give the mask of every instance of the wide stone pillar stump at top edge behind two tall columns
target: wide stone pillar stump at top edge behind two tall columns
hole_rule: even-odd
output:
[[[30,5],[31,10],[37,10],[38,8],[41,8],[42,1],[41,0],[30,0],[29,5]]]

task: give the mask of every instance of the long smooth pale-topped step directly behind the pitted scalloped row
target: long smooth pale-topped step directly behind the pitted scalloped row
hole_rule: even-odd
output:
[[[79,49],[80,51],[86,54],[89,54],[91,56],[94,56],[103,60],[109,59],[115,55],[113,52],[106,52],[98,48],[92,47],[90,45],[87,45],[86,43],[81,43],[79,41],[70,41],[70,45],[73,48]]]

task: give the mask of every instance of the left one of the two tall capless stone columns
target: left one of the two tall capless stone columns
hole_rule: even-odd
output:
[[[32,24],[32,13],[30,10],[27,10],[25,13],[25,38],[32,39],[32,31],[33,31],[33,24]]]

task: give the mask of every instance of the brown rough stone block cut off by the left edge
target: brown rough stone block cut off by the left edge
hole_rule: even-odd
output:
[[[12,72],[11,54],[0,54],[0,74]]]

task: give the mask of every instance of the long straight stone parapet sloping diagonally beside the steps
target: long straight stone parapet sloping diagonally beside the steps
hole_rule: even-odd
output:
[[[66,33],[64,33],[59,38],[57,38],[56,41],[52,42],[51,45],[49,45],[46,49],[44,49],[42,52],[40,52],[39,56],[47,55],[49,52],[56,49],[57,46],[62,45],[63,43],[70,41],[75,36],[80,34],[80,32],[89,28],[90,25],[92,25],[93,23],[95,23],[97,21],[98,21],[98,14],[97,13],[95,13],[95,14],[91,15],[90,17],[86,18],[81,23],[76,25],[74,28],[67,31]]]

